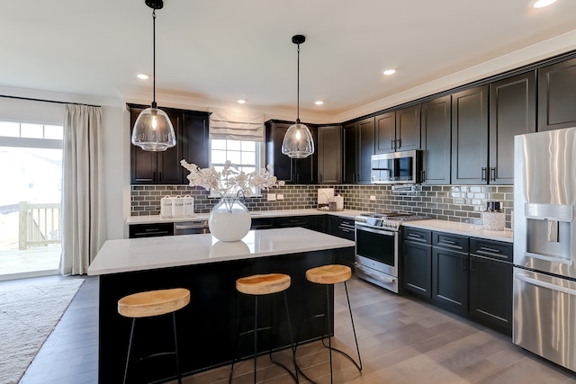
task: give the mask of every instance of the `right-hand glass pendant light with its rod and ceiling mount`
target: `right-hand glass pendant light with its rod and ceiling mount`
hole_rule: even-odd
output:
[[[304,158],[314,153],[314,140],[310,129],[300,122],[300,44],[306,41],[302,35],[292,37],[292,42],[298,45],[298,96],[296,123],[291,125],[284,135],[282,153],[293,158]]]

